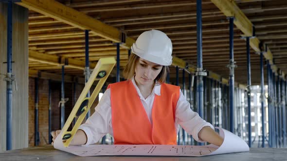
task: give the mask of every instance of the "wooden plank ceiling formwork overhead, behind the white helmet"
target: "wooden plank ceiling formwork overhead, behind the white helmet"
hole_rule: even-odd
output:
[[[60,3],[68,9],[59,7]],[[68,66],[65,72],[82,76],[85,62],[85,29],[90,30],[89,51],[92,64],[96,64],[101,57],[116,57],[113,43],[120,42],[120,34],[124,32],[127,37],[126,44],[121,45],[120,50],[120,64],[123,67],[128,60],[127,48],[130,48],[134,40],[143,31],[158,29],[172,40],[173,56],[176,57],[173,65],[180,64],[183,67],[183,64],[189,63],[193,66],[189,69],[193,71],[197,65],[196,0],[22,0],[18,4],[30,9],[31,70],[60,74],[63,62],[59,60],[69,59],[69,62],[74,64]],[[51,8],[47,5],[55,5],[51,9],[54,13],[46,11]],[[224,8],[228,5],[231,7]],[[64,16],[59,17],[61,14]],[[79,15],[85,19],[76,19]],[[256,54],[260,41],[268,45],[269,52],[265,53],[265,57],[271,64],[275,64],[273,70],[280,69],[287,73],[286,0],[202,0],[202,54],[205,69],[228,79],[227,16],[235,16],[234,61],[238,65],[235,68],[235,81],[243,84],[247,82],[246,41],[241,36],[251,32],[250,24],[256,29],[256,38],[251,39],[252,83],[260,82],[260,59]],[[250,23],[240,26],[240,22]],[[35,58],[35,53],[42,55]],[[43,54],[49,58],[45,59]],[[175,76],[174,73],[171,71],[171,77]]]

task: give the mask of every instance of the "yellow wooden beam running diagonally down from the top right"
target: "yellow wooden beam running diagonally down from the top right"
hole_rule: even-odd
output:
[[[234,0],[211,0],[219,10],[225,16],[233,16],[235,18],[235,26],[244,33],[244,36],[252,36],[252,23],[247,16],[240,10],[236,5]],[[255,52],[260,52],[259,49],[260,40],[258,38],[250,39],[250,46]],[[269,63],[272,65],[272,70],[277,69],[276,65],[273,63],[273,56],[271,51],[264,53],[264,57],[269,60]]]

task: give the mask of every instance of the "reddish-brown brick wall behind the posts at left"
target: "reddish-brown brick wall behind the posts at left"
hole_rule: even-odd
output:
[[[69,101],[65,104],[65,120],[69,117],[73,105],[80,96],[84,85],[76,84],[75,95],[73,83],[65,82],[65,98]],[[93,87],[94,88],[94,87]],[[93,89],[92,88],[92,89]],[[39,103],[38,103],[38,131],[39,145],[49,144],[49,81],[39,79]],[[90,91],[92,92],[92,90]],[[75,98],[74,98],[75,97]],[[58,103],[61,99],[61,82],[51,81],[51,130],[61,129],[61,109]],[[98,103],[98,97],[91,107],[91,114]],[[85,120],[83,121],[83,123]],[[29,146],[35,146],[35,78],[29,78]]]

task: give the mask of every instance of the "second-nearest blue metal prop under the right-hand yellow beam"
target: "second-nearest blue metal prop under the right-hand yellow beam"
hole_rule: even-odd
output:
[[[247,104],[248,104],[248,145],[251,147],[251,97],[250,97],[250,86],[251,86],[251,65],[250,65],[250,37],[246,37],[246,48],[247,48]]]

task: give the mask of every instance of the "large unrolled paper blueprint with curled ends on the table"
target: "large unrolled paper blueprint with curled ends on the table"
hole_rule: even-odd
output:
[[[249,151],[244,140],[230,131],[219,129],[224,138],[221,146],[216,145],[70,145],[65,147],[60,137],[54,142],[54,148],[78,156],[207,156],[225,153]],[[61,134],[59,134],[61,136]]]

